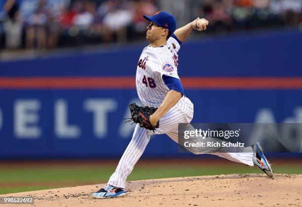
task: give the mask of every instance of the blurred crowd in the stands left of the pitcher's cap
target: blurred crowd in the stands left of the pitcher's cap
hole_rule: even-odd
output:
[[[157,10],[153,0],[0,0],[0,48],[131,41]]]

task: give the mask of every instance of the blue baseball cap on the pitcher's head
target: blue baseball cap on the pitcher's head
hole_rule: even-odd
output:
[[[168,29],[171,34],[176,30],[176,19],[168,12],[157,11],[153,16],[143,15],[143,17],[148,21],[154,22],[155,24]]]

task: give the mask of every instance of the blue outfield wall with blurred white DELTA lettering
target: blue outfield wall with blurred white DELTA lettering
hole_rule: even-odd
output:
[[[135,77],[142,49],[135,45],[0,62],[0,79]],[[185,42],[178,71],[181,78],[302,78],[301,58],[301,32],[269,32]],[[185,88],[185,92],[194,103],[194,123],[302,123],[302,88]],[[0,159],[120,157],[134,127],[123,119],[129,117],[128,104],[137,98],[135,88],[1,86]],[[166,135],[152,136],[144,153],[183,155]]]

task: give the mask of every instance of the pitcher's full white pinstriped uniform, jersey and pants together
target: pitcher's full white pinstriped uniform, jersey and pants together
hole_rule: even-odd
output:
[[[157,108],[163,102],[169,88],[162,80],[162,75],[179,79],[177,74],[177,52],[179,49],[179,43],[172,37],[169,38],[167,44],[163,47],[147,46],[144,48],[136,71],[136,89],[141,102],[145,106]],[[117,188],[125,188],[126,179],[133,170],[134,165],[143,155],[150,141],[150,136],[153,134],[167,134],[175,142],[178,142],[178,124],[190,123],[192,118],[193,104],[189,98],[184,95],[178,103],[159,120],[159,127],[156,128],[155,131],[140,127],[140,125],[137,124],[132,139],[114,173],[111,175],[108,184]],[[192,130],[193,129],[192,127]],[[194,154],[203,154],[200,150],[198,151],[198,147],[192,147],[188,150]],[[221,151],[210,154],[253,166],[253,150],[247,152],[243,150],[243,148],[235,148],[234,152]]]

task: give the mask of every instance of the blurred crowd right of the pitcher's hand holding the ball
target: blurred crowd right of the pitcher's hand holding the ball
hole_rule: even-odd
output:
[[[202,0],[196,7],[194,15],[207,17],[208,32],[217,34],[302,26],[302,0]]]

